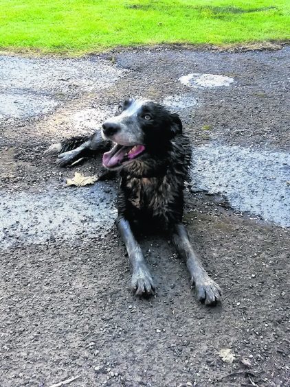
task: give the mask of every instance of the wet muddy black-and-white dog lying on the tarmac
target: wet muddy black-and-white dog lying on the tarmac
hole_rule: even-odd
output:
[[[135,294],[153,294],[155,285],[132,230],[135,224],[159,224],[186,259],[199,301],[215,305],[221,298],[219,285],[203,268],[182,224],[191,147],[179,116],[152,101],[126,99],[102,131],[52,145],[46,154],[58,154],[58,165],[65,166],[101,150],[109,150],[102,157],[104,167],[120,173],[117,226],[131,262]]]

